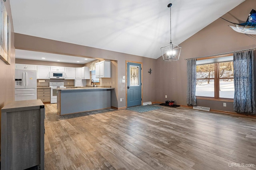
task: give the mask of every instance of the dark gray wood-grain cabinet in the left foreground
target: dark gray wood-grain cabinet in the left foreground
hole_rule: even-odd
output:
[[[44,117],[41,100],[10,102],[1,109],[1,170],[44,169]]]

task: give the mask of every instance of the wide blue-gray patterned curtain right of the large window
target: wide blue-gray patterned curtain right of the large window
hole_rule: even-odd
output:
[[[234,111],[256,114],[253,51],[234,53]]]

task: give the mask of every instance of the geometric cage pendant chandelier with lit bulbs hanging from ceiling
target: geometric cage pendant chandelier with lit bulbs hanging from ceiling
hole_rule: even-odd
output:
[[[168,8],[170,8],[170,43],[166,44],[161,48],[162,56],[164,61],[176,61],[180,57],[181,47],[172,43],[172,19],[171,19],[171,6],[172,4],[168,4]]]

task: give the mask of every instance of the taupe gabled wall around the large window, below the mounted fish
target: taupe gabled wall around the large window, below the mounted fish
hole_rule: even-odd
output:
[[[248,14],[254,7],[256,7],[255,0],[246,0],[222,16],[222,18],[235,23],[241,23],[242,21],[246,21]],[[228,25],[232,24],[219,18],[182,42],[180,44],[182,47],[180,60],[178,61],[164,62],[161,57],[157,59],[158,95],[156,100],[158,102],[164,102],[166,100],[164,95],[167,95],[168,99],[176,100],[178,104],[186,106],[187,65],[184,59],[256,47],[256,41],[254,39],[245,34],[233,31]],[[223,107],[222,101],[197,100],[198,106],[234,112],[233,102],[225,103],[227,107]]]

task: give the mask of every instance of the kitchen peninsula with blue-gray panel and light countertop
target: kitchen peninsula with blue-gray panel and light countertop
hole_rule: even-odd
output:
[[[114,88],[83,87],[57,89],[57,113],[66,115],[111,107]]]

